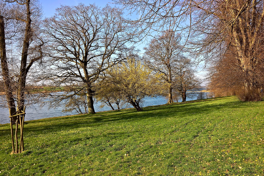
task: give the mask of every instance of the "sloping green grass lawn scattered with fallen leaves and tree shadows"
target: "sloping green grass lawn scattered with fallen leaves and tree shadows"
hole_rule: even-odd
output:
[[[235,97],[28,121],[0,175],[264,175],[264,102]]]

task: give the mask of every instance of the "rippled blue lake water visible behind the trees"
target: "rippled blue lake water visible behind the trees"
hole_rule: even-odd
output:
[[[197,99],[197,97],[187,98],[186,101]],[[145,97],[143,102],[143,107],[145,106],[153,106],[153,105],[161,105],[166,104],[167,99],[165,97]],[[94,104],[95,112],[99,111],[108,111],[112,110],[110,106],[104,106],[103,108],[99,108],[100,103]],[[131,108],[132,106],[126,106],[126,104],[122,108]],[[43,119],[49,117],[57,117],[57,116],[67,116],[77,114],[76,111],[72,112],[62,112],[63,107],[51,108],[49,109],[47,105],[43,106],[41,109],[38,104],[35,104],[35,107],[28,107],[26,109],[25,121],[27,120],[36,120]],[[0,108],[0,124],[10,123],[9,121],[9,110]]]

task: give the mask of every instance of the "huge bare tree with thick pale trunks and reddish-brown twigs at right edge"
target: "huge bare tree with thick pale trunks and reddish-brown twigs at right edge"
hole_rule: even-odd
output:
[[[217,90],[224,88],[225,92],[228,89],[235,94],[243,92],[242,97],[248,97],[242,98],[243,101],[261,100],[263,97],[263,5],[263,1],[236,0],[219,1],[211,9],[199,7],[201,12],[210,12],[211,21],[216,24],[207,28],[201,48],[217,55],[213,60],[207,56],[213,61],[211,68],[215,71],[211,85]],[[195,29],[199,31],[201,26],[209,23],[203,21]]]

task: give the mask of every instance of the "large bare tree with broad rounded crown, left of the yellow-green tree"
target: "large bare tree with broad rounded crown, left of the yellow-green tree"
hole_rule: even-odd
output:
[[[94,111],[94,83],[101,72],[126,59],[135,29],[124,22],[118,8],[95,5],[61,6],[57,14],[45,19],[45,33],[50,41],[48,76],[55,86],[82,83],[89,113]],[[70,99],[63,94],[58,101]]]

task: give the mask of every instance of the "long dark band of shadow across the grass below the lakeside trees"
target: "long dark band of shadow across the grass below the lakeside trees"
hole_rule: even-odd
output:
[[[224,97],[221,99],[229,99],[229,97]],[[135,109],[123,109],[120,111],[98,112],[96,114],[84,114],[44,120],[27,121],[29,124],[25,125],[24,131],[25,135],[31,132],[34,133],[34,135],[38,135],[45,132],[63,131],[65,129],[70,130],[80,127],[97,127],[109,122],[122,123],[122,121],[124,120],[136,121],[138,119],[148,118],[167,118],[168,116],[178,118],[185,116],[193,116],[196,114],[206,115],[210,114],[213,111],[218,111],[223,107],[243,107],[243,102],[240,101],[228,101],[216,104],[209,104],[210,102],[214,101],[214,99],[205,99],[200,101],[204,101],[204,104],[197,105],[192,102],[185,102],[158,106],[148,106],[143,108],[143,111],[140,112],[137,112]],[[0,136],[9,135],[9,133],[9,128],[0,130]]]

